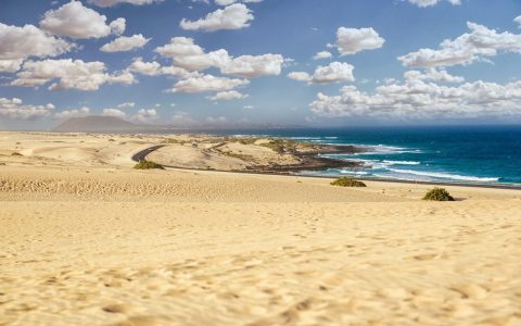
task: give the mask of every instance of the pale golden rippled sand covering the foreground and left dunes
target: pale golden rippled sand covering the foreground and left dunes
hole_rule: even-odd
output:
[[[140,137],[0,133],[0,325],[521,325],[520,190],[135,171]]]

